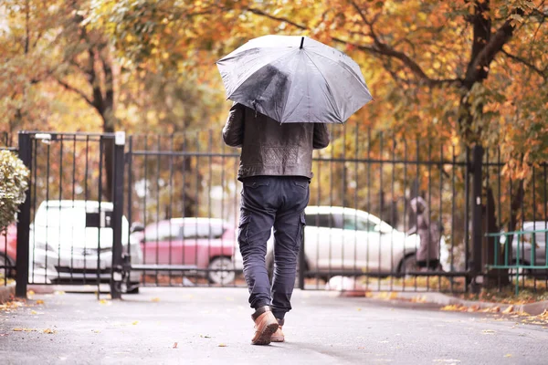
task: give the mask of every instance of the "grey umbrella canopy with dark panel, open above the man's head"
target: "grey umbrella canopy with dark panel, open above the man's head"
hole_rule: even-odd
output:
[[[259,36],[216,64],[227,99],[282,123],[343,123],[373,99],[351,57],[306,36]]]

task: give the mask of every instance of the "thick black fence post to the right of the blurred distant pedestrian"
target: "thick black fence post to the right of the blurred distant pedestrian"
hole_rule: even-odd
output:
[[[483,241],[482,231],[482,212],[481,212],[481,195],[482,195],[482,167],[483,167],[483,147],[476,145],[472,150],[472,291],[478,292],[479,286],[476,284],[476,277],[483,273],[481,267],[481,244]]]

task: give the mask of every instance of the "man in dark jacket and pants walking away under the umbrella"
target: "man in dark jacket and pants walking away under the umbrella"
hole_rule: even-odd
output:
[[[281,327],[291,309],[297,258],[309,203],[312,150],[329,145],[322,123],[284,123],[234,103],[223,129],[228,146],[240,147],[237,178],[243,183],[238,244],[244,260],[251,316],[251,342],[283,341]],[[265,265],[274,227],[274,276]]]

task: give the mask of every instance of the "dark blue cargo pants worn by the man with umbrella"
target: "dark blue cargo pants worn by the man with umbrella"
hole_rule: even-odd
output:
[[[301,176],[253,176],[243,179],[238,244],[244,260],[251,308],[271,306],[276,318],[290,311],[295,285],[304,208],[310,180]],[[274,227],[274,276],[270,287],[265,265]]]

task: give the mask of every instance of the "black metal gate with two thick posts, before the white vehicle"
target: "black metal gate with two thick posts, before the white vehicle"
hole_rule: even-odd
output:
[[[17,296],[27,284],[91,285],[98,295],[110,284],[120,297],[113,257],[132,244],[121,215],[123,144],[123,133],[19,133],[31,177],[18,214]]]

